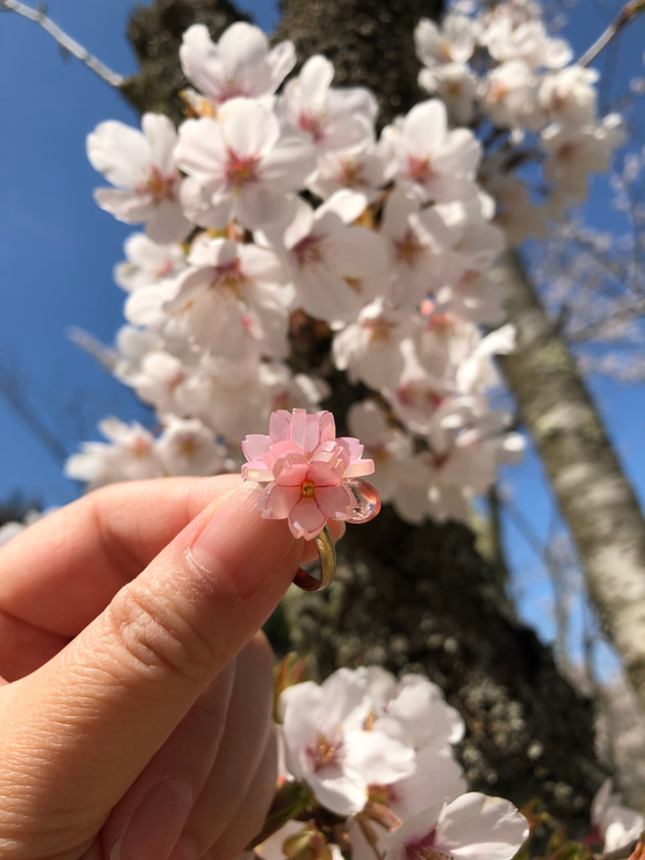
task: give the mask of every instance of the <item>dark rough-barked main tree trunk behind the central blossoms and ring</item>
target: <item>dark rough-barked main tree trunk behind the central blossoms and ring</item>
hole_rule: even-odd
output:
[[[146,45],[175,52],[180,31],[158,29],[169,28],[168,21],[188,25],[189,7],[194,20],[205,20],[207,10],[230,11],[221,0],[156,0],[135,14],[132,32],[147,89],[154,90],[155,69],[165,65],[156,65],[160,48],[148,58]],[[277,38],[293,39],[301,62],[324,52],[336,65],[336,83],[373,87],[386,118],[418,100],[413,30],[423,14],[439,11],[436,3],[283,0],[281,8]],[[212,28],[214,37],[219,32]],[[164,71],[163,94],[136,104],[160,107],[170,97],[169,74],[179,80],[176,71]],[[137,87],[131,82],[127,94]],[[298,338],[311,345],[324,332],[304,325]],[[318,355],[298,349],[304,353]],[[342,421],[351,396],[340,384],[325,406]],[[425,672],[464,715],[460,757],[474,787],[518,804],[540,797],[572,832],[589,828],[589,801],[603,776],[593,754],[590,703],[559,675],[550,650],[516,620],[502,578],[477,553],[472,532],[457,525],[414,528],[386,508],[374,522],[350,527],[340,552],[339,577],[327,592],[294,591],[285,601],[293,645],[310,655],[319,676],[365,663]]]

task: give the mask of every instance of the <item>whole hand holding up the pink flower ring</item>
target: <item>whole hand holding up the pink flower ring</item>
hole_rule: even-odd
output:
[[[115,485],[0,550],[3,860],[232,860],[259,831],[257,631],[315,550],[257,499],[237,476]]]

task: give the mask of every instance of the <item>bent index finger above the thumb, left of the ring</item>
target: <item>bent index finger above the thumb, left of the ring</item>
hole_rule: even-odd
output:
[[[239,475],[115,484],[30,526],[0,550],[0,610],[74,636]]]

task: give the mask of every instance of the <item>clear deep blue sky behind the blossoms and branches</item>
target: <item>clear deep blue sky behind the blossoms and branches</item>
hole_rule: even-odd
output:
[[[275,3],[239,4],[264,29],[277,20]],[[131,0],[49,0],[48,10],[72,37],[127,75],[136,69],[124,37],[134,6]],[[581,0],[565,30],[578,52],[620,7]],[[642,19],[621,41],[618,87],[627,75],[643,73],[644,44]],[[72,453],[81,441],[97,437],[101,417],[136,416],[138,410],[129,392],[65,335],[75,325],[110,343],[123,322],[123,293],[112,269],[131,229],[92,199],[102,180],[86,160],[85,137],[103,120],[134,125],[137,117],[117,92],[75,60],[64,61],[50,37],[9,12],[0,13],[0,370],[20,381],[39,418]],[[602,189],[594,194],[589,217],[606,227]],[[644,390],[596,381],[594,393],[643,498]],[[547,533],[552,501],[537,458],[529,454],[521,466],[504,470],[503,480],[535,530]],[[13,490],[45,505],[79,494],[0,396],[0,499]],[[541,566],[512,525],[508,547],[513,568],[524,573],[522,611],[549,635]]]

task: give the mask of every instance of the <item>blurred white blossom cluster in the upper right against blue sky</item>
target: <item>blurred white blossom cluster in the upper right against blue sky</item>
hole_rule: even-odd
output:
[[[543,237],[550,220],[584,201],[590,175],[605,173],[622,143],[621,117],[599,117],[599,73],[573,62],[531,0],[457,3],[441,25],[420,21],[415,42],[422,89],[454,122],[495,129],[479,173],[495,222],[511,245]],[[542,169],[531,174],[529,163]]]

